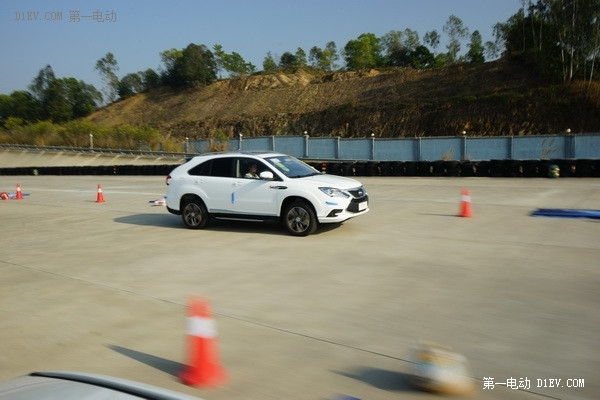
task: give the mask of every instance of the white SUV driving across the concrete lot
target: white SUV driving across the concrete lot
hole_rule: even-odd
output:
[[[274,220],[292,235],[307,236],[319,223],[369,211],[360,182],[274,152],[202,154],[175,168],[167,185],[167,209],[192,229],[203,228],[209,218]]]

